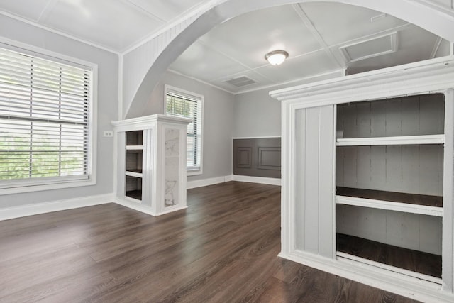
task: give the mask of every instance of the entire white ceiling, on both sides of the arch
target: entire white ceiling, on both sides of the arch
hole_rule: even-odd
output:
[[[0,13],[123,53],[209,0],[0,0]],[[327,2],[277,6],[212,29],[171,66],[234,94],[448,55],[447,41],[383,13]],[[440,46],[440,48],[438,48]],[[268,65],[265,53],[289,58]],[[438,52],[437,52],[438,51]],[[226,81],[248,77],[236,87]]]

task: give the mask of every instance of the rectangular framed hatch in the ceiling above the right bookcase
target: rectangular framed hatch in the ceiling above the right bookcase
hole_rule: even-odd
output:
[[[339,48],[347,62],[355,62],[397,51],[397,32],[362,40]]]

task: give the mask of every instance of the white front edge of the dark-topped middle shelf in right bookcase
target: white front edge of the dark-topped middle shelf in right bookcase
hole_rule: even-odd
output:
[[[337,196],[336,204],[369,207],[372,209],[386,209],[391,211],[402,211],[412,214],[424,214],[428,216],[443,216],[443,207],[426,206],[418,204],[407,204],[401,202],[389,202],[375,199],[357,197]]]

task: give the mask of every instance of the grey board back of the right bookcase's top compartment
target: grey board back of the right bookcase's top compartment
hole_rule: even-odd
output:
[[[443,134],[444,104],[443,94],[339,104],[337,131],[343,138]]]

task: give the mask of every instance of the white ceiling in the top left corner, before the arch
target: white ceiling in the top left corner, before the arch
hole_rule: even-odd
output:
[[[0,0],[0,11],[117,53],[209,0]]]

